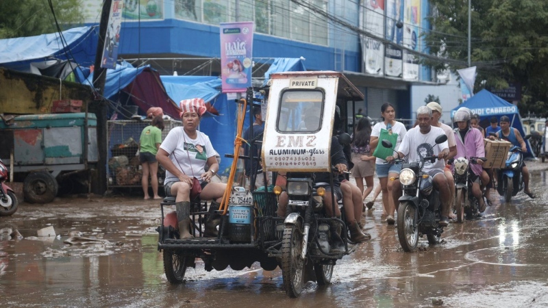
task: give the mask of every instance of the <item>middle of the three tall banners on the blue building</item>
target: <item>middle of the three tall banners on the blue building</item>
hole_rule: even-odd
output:
[[[386,0],[386,32],[385,38],[401,45],[403,42],[403,0]],[[397,25],[402,27],[397,27]],[[384,74],[401,77],[403,52],[397,47],[386,45],[384,51]]]

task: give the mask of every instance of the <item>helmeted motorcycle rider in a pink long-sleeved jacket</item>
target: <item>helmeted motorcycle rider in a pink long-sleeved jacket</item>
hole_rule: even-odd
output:
[[[455,138],[457,140],[457,157],[484,157],[484,138],[479,129],[475,129],[470,125],[470,113],[466,110],[459,109],[453,117],[453,122],[456,123]],[[472,194],[477,199],[479,212],[485,211],[486,204],[482,196],[482,187],[479,185],[481,179],[482,185],[486,185],[489,181],[487,172],[483,170],[484,161],[477,159],[477,164],[471,164],[470,168],[473,172],[471,176]]]

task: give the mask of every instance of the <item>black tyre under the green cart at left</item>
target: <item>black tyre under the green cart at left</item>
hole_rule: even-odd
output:
[[[47,171],[31,172],[23,182],[23,194],[30,203],[51,202],[58,189],[57,180]]]

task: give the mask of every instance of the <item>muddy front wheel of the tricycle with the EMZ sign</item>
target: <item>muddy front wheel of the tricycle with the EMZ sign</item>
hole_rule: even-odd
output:
[[[304,285],[303,227],[297,223],[284,229],[282,238],[282,278],[286,294],[291,298],[301,295]]]

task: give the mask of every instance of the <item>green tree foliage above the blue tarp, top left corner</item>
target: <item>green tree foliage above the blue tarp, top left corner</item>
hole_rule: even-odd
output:
[[[55,18],[50,8],[53,6]],[[0,1],[0,38],[37,36],[82,24],[82,0],[16,0]]]

